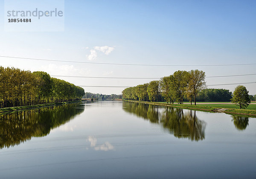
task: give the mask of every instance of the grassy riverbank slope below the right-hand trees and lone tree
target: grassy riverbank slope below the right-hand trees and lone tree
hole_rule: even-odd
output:
[[[137,103],[145,103],[145,104],[154,104],[158,106],[170,106],[170,107],[179,107],[184,109],[192,109],[192,110],[202,110],[202,111],[217,111],[218,109],[225,108],[221,107],[223,105],[219,105],[218,107],[216,105],[190,105],[190,104],[167,104],[167,103],[161,103],[161,102],[147,102],[147,101],[131,101],[131,102],[137,102]],[[254,104],[255,105],[255,104]],[[229,107],[230,108],[230,107]],[[227,109],[223,111],[223,113],[230,113],[230,114],[241,114],[241,115],[255,115],[256,116],[256,110],[240,110],[240,109]]]

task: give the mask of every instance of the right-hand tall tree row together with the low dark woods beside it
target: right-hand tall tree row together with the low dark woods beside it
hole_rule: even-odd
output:
[[[199,70],[176,71],[160,81],[151,81],[122,91],[123,99],[138,101],[230,101],[232,92],[224,89],[204,89],[205,72]],[[196,104],[196,103],[195,103]]]

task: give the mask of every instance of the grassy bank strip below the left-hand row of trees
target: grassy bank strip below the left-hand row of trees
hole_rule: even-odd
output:
[[[76,102],[80,102],[80,101],[86,101],[86,100],[76,100],[76,101],[48,103],[48,104],[37,104],[37,105],[30,105],[30,106],[6,107],[6,108],[0,108],[0,113],[9,113],[9,112],[20,111],[20,110],[31,110],[31,109],[36,109],[36,108],[40,108],[40,107],[57,106],[57,105],[62,105],[62,104],[76,103]]]

